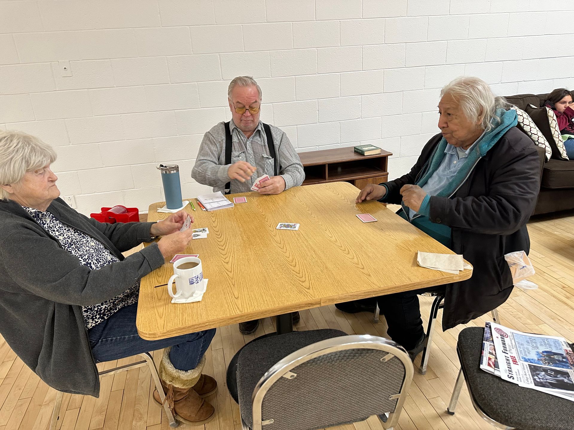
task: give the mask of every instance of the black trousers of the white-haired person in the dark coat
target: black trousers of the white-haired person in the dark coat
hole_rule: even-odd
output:
[[[444,288],[444,287],[443,287]],[[418,294],[440,291],[441,287],[427,287],[420,290],[395,292],[379,296],[377,303],[387,320],[387,334],[407,351],[413,349],[424,335]]]

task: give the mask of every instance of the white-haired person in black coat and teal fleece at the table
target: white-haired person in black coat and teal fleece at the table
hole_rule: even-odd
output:
[[[401,204],[402,218],[474,266],[471,279],[448,284],[443,330],[464,324],[506,301],[513,287],[505,254],[529,251],[526,222],[540,188],[540,161],[518,130],[517,114],[476,77],[459,77],[441,91],[437,134],[410,173],[367,185],[357,202]],[[391,339],[411,358],[424,347],[417,294],[378,298]]]

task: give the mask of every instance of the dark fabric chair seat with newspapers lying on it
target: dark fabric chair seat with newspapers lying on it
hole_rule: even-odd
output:
[[[573,401],[523,388],[480,369],[483,335],[481,327],[464,329],[456,348],[479,408],[498,423],[521,430],[572,430]]]

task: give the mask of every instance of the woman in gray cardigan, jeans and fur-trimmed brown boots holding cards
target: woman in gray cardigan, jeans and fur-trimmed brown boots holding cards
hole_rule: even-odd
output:
[[[145,341],[135,328],[139,280],[183,252],[186,215],[103,224],[61,198],[51,146],[0,132],[0,331],[16,354],[57,390],[98,396],[96,362],[165,348],[160,379],[176,418],[204,424],[215,392],[201,373],[215,329]],[[157,243],[124,258],[142,241]],[[154,399],[160,396],[154,392]]]

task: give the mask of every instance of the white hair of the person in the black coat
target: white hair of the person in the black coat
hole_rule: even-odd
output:
[[[459,76],[445,85],[440,96],[451,95],[459,104],[464,116],[474,123],[480,120],[480,127],[490,131],[501,119],[497,110],[507,110],[509,103],[504,97],[495,97],[486,82],[474,76]]]

